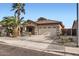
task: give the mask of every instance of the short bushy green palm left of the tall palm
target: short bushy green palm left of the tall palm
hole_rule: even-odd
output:
[[[16,26],[16,18],[13,16],[3,17],[3,20],[0,21],[0,24],[5,27],[6,33],[8,36],[13,34],[13,28]]]

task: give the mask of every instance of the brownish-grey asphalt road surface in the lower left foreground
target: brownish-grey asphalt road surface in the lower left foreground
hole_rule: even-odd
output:
[[[0,56],[56,56],[55,54],[0,44]]]

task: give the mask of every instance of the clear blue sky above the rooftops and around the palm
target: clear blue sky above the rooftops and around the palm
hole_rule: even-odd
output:
[[[11,3],[0,3],[0,20],[5,16],[13,16]],[[36,21],[39,17],[61,21],[65,28],[71,28],[76,20],[75,3],[26,3],[24,20]]]

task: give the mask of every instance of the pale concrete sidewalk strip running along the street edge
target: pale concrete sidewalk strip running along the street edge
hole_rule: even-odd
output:
[[[6,37],[0,38],[0,41],[5,42],[1,44],[33,49],[37,51],[44,51],[47,53],[53,53],[58,55],[64,55],[64,51],[66,53],[65,55],[79,55],[79,48],[76,48],[76,47],[64,47],[64,46],[59,46],[55,44],[48,44],[48,43],[41,43],[41,42],[38,43],[38,42],[33,42],[28,40],[18,40],[18,39],[9,40]]]

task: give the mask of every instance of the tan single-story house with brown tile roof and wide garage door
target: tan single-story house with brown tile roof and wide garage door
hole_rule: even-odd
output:
[[[29,20],[24,27],[27,32],[31,32],[32,34],[46,35],[52,33],[56,35],[58,32],[61,33],[61,29],[64,28],[64,25],[60,21],[40,17],[37,21]]]

